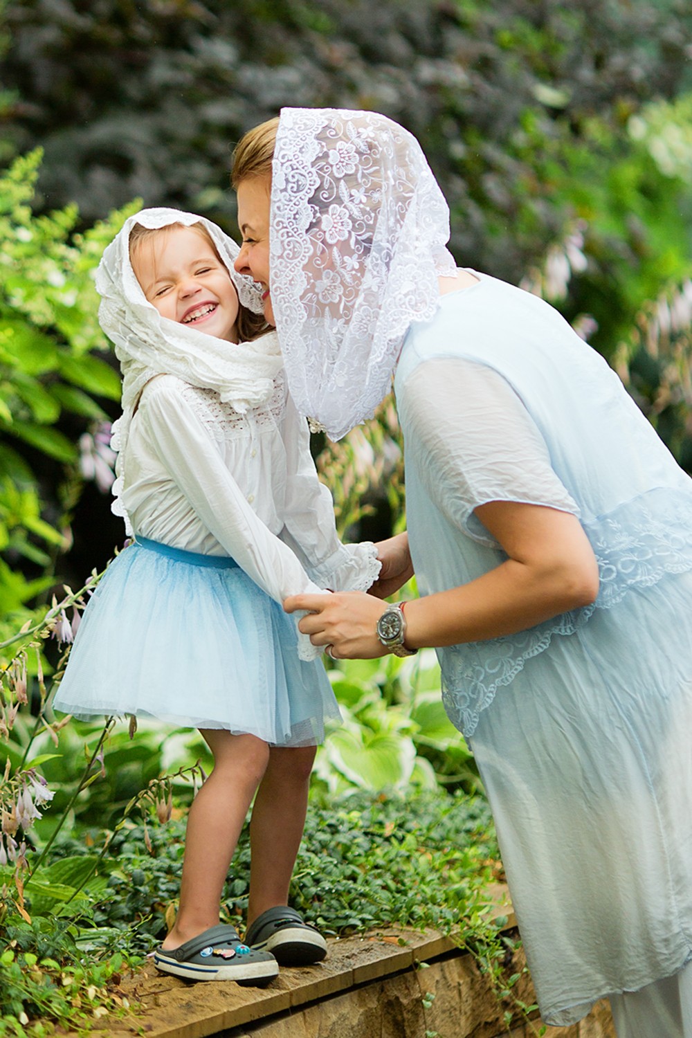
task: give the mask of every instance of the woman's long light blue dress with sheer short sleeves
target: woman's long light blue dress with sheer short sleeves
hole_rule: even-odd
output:
[[[569,1026],[692,958],[692,481],[554,309],[476,276],[399,358],[408,528],[421,594],[506,557],[491,500],[572,512],[599,562],[594,605],[438,650],[544,1019]]]

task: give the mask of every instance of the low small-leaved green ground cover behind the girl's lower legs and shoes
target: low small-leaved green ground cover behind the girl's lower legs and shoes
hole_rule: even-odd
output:
[[[129,823],[113,838],[107,889],[94,906],[94,940],[101,934],[112,944],[113,931],[129,929],[130,947],[143,952],[163,937],[177,902],[184,840],[183,820],[146,831]],[[439,790],[406,798],[361,792],[309,807],[292,904],[331,933],[391,924],[449,931],[481,916],[496,859],[482,798]],[[249,879],[246,825],[224,895],[226,918],[241,929]]]

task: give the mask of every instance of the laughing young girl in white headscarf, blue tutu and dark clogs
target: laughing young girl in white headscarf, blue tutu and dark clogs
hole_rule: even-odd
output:
[[[89,601],[55,707],[200,729],[215,766],[190,810],[179,909],[155,962],[265,984],[277,960],[326,954],[286,901],[315,744],[338,716],[320,650],[279,603],[365,590],[380,565],[373,545],[338,541],[276,333],[259,334],[259,293],[234,273],[237,255],[215,224],[168,209],[131,217],[104,253],[100,321],[122,370],[114,511],[134,541]],[[255,793],[250,949],[219,925],[219,906]]]

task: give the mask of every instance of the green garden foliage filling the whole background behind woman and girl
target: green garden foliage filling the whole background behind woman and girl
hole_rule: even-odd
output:
[[[34,921],[22,916],[17,886],[0,898],[0,925],[6,917],[19,948],[64,968],[70,941],[74,957],[76,939],[107,947],[113,927],[118,947],[135,949],[165,929],[182,830],[169,861],[168,838],[150,838],[146,818],[170,814],[172,791],[175,822],[196,762],[209,767],[196,733],[162,738],[143,726],[130,739],[116,729],[104,757],[98,726],[58,731],[44,713],[43,674],[60,665],[55,643],[38,637],[27,648],[29,633],[2,644],[23,625],[40,628],[51,596],[81,588],[123,541],[110,512],[108,447],[119,383],[93,289],[104,245],[141,204],[195,210],[236,235],[232,146],[283,105],[384,112],[428,156],[459,263],[557,306],[692,471],[692,8],[687,0],[0,0],[0,736],[9,762],[0,800],[34,789],[31,766],[55,794],[27,837],[30,861],[32,849],[52,847],[27,893]],[[378,539],[404,527],[391,399],[338,444],[313,446],[344,534]],[[344,725],[320,750],[308,844],[325,832],[330,844],[321,812],[345,796],[352,810],[339,809],[334,823],[342,842],[360,854],[369,834],[371,849],[334,858],[336,873],[321,872],[306,851],[294,897],[335,929],[420,921],[419,900],[387,901],[398,887],[386,877],[377,895],[361,894],[360,914],[356,898],[326,916],[321,891],[375,875],[392,834],[404,834],[397,861],[402,848],[407,861],[418,848],[431,876],[461,870],[454,889],[468,893],[464,876],[486,868],[496,875],[496,851],[479,837],[490,823],[473,759],[442,711],[434,654],[354,662],[331,677]],[[435,836],[440,797],[455,820]],[[411,836],[418,824],[423,835]],[[452,829],[475,848],[461,864],[450,864]],[[108,841],[110,865],[98,861]],[[12,869],[0,861],[6,884]],[[419,878],[399,884],[409,901],[406,887]],[[103,900],[106,883],[132,903],[123,907],[124,894]],[[229,918],[244,906],[242,869],[233,883]],[[440,903],[437,890],[431,904]],[[469,918],[467,893],[448,922]],[[133,922],[143,927],[140,944],[136,928],[122,934]],[[22,985],[35,975],[13,954],[0,960],[0,1008],[61,1018],[64,1007],[27,993]],[[24,1033],[3,1026],[0,1034]]]

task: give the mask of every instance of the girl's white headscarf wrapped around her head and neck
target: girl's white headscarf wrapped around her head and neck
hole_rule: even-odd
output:
[[[130,262],[130,234],[135,224],[166,227],[175,223],[202,224],[228,268],[241,302],[256,313],[262,309],[260,288],[233,270],[240,251],[236,242],[211,220],[194,213],[142,210],[126,220],[105,249],[96,270],[96,291],[102,297],[99,322],[115,346],[122,373],[122,414],[113,424],[111,438],[111,446],[118,452],[113,512],[123,516],[129,535],[132,528],[119,500],[124,448],[137,401],[148,380],[155,375],[177,375],[191,385],[214,389],[224,403],[243,412],[270,398],[282,364],[275,332],[236,345],[163,318],[147,301]]]

